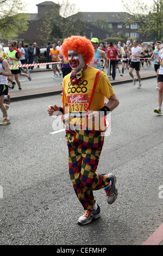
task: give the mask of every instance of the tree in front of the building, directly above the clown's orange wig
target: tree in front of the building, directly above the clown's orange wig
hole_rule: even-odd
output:
[[[59,9],[56,4],[47,6],[40,31],[47,34],[47,40],[63,40],[67,36],[80,34],[83,28],[82,14],[78,13],[75,4],[68,0],[59,2]],[[43,39],[43,38],[42,38]]]

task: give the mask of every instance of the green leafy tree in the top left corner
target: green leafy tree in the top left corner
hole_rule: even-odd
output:
[[[29,15],[22,0],[0,0],[0,38],[11,40],[28,29]]]

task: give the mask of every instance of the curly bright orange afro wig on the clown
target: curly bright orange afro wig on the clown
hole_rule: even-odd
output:
[[[94,48],[91,41],[85,36],[72,35],[70,38],[66,38],[62,44],[62,54],[66,60],[68,60],[68,50],[82,54],[86,56],[85,63],[88,65],[94,58]]]

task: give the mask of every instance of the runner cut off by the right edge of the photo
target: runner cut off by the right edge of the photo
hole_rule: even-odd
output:
[[[163,97],[163,50],[159,52],[161,59],[158,60],[158,65],[160,64],[158,84],[159,84],[159,93],[158,93],[158,108],[154,108],[154,112],[161,114],[161,105]]]

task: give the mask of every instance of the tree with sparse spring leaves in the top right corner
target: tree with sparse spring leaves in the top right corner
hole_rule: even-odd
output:
[[[163,39],[163,0],[153,0],[151,5],[143,0],[122,3],[128,13],[126,20],[121,20],[124,26],[137,23],[137,32],[146,35],[146,39]]]

